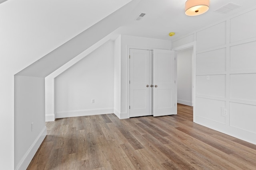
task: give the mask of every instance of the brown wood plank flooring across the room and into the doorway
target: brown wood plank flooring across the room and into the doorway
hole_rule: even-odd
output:
[[[28,170],[256,170],[256,145],[178,115],[114,114],[46,122],[47,136]]]

